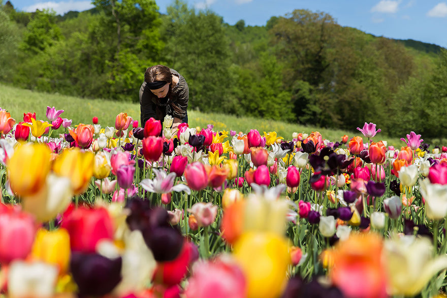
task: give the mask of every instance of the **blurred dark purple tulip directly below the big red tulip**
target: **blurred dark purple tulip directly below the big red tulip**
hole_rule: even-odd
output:
[[[104,296],[121,281],[121,257],[108,258],[97,253],[73,252],[70,269],[79,296]]]

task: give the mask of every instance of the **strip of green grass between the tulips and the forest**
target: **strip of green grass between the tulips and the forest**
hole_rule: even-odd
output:
[[[16,122],[22,121],[23,113],[28,112],[36,112],[38,120],[47,120],[45,116],[47,106],[65,110],[61,117],[72,119],[73,125],[78,123],[91,124],[91,119],[96,116],[99,119],[99,124],[103,127],[114,126],[115,117],[121,112],[127,113],[133,119],[140,120],[140,105],[138,103],[48,94],[0,84],[0,107],[7,109]],[[344,134],[347,134],[349,138],[361,135],[355,127],[352,131],[346,131],[251,117],[201,113],[196,110],[188,110],[188,120],[189,127],[206,127],[208,124],[212,124],[214,130],[217,131],[235,130],[247,133],[250,129],[257,129],[261,134],[264,131],[276,131],[278,136],[282,136],[284,139],[291,139],[293,132],[311,133],[312,131],[319,131],[323,138],[331,141],[341,140]],[[396,147],[405,144],[398,138],[391,138],[380,133],[373,139],[374,141],[386,140],[389,145]],[[366,139],[364,140],[366,141]]]

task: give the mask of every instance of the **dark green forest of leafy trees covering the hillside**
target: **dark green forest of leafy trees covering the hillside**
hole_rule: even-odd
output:
[[[390,136],[444,137],[447,51],[343,27],[296,10],[265,26],[223,22],[176,0],[93,0],[94,8],[25,13],[0,0],[0,82],[138,102],[148,66],[189,85],[189,108],[329,128],[373,122]]]

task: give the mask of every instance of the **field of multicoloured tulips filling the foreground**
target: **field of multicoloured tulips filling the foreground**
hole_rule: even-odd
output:
[[[446,146],[63,116],[0,108],[0,295],[447,297]]]

